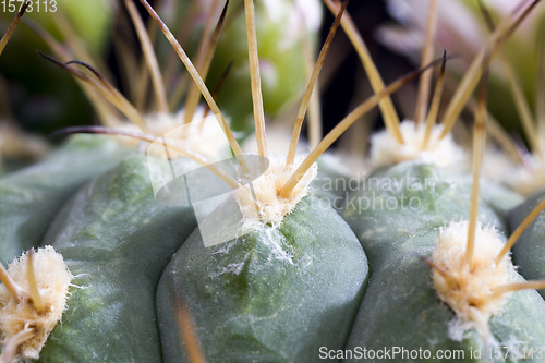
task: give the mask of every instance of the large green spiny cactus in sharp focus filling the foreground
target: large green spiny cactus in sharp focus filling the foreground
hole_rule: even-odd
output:
[[[545,202],[535,196],[517,207],[522,201],[517,193],[480,180],[488,56],[531,5],[497,27],[491,52],[476,58],[444,122],[435,125],[446,55],[385,86],[346,13],[348,1],[325,0],[336,21],[283,157],[267,146],[253,1],[244,1],[244,14],[257,156],[242,154],[196,68],[154,9],[141,2],[186,65],[234,158],[214,164],[196,150],[203,140],[190,143],[173,140],[170,131],[153,131],[157,119],[120,101],[105,78],[57,62],[95,89],[108,89],[109,101],[143,121],[138,131],[116,121],[118,128],[69,133],[132,136],[152,145],[144,156],[108,135],[73,135],[43,161],[0,179],[0,235],[7,241],[0,256],[8,262],[23,249],[45,246],[25,253],[8,271],[0,269],[0,360],[318,362],[325,353],[332,360],[374,361],[355,356],[356,349],[402,347],[410,356],[399,353],[390,361],[440,362],[439,350],[457,350],[464,353],[460,361],[485,362],[497,346],[511,344],[518,352],[545,348],[545,301],[537,292],[545,283],[525,280],[544,278],[534,251]],[[298,155],[304,116],[339,26],[354,43],[375,95],[310,155]],[[439,62],[427,117],[400,123],[388,96]],[[480,81],[470,176],[465,166],[453,167],[467,155],[449,131]],[[374,170],[339,215],[318,199],[334,195],[313,190],[313,183],[323,185],[314,181],[317,160],[375,106],[387,131],[373,136]],[[234,171],[226,171],[227,165]],[[192,174],[202,166],[215,176]],[[187,182],[164,174],[171,170],[199,178]],[[197,223],[187,203],[190,187],[211,189],[211,178],[233,192]],[[158,181],[167,181],[174,194],[165,185],[158,190]],[[51,286],[60,287],[56,303],[49,299]],[[62,311],[62,317],[50,314]],[[425,355],[413,358],[419,350]],[[542,361],[533,354],[519,360],[493,354],[489,361]]]

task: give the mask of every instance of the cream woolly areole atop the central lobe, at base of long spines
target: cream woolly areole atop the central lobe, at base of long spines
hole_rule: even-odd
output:
[[[289,197],[279,196],[279,192],[304,159],[305,156],[299,155],[293,165],[286,168],[286,157],[271,154],[267,171],[252,182],[256,201],[254,201],[250,184],[234,191],[234,198],[244,216],[243,229],[262,223],[279,226],[283,217],[295,208],[308,193],[308,185],[318,172],[317,165],[314,164],[306,171]]]

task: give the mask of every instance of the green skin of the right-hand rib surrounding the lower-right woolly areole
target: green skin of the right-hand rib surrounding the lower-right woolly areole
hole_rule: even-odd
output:
[[[380,172],[379,184],[360,191],[356,197],[393,197],[401,206],[401,197],[416,197],[421,208],[411,210],[347,209],[343,217],[359,237],[370,258],[373,275],[365,292],[347,349],[365,347],[379,350],[384,347],[403,347],[405,350],[429,350],[431,359],[419,362],[441,362],[434,359],[437,350],[463,350],[463,362],[486,362],[488,348],[475,330],[469,330],[460,341],[449,334],[449,324],[456,314],[437,297],[431,267],[417,258],[429,257],[434,251],[439,228],[451,220],[468,219],[471,181],[469,177],[452,174],[434,166],[404,162]],[[392,180],[426,178],[435,180],[434,187],[385,191],[385,183]],[[431,183],[429,183],[431,184]],[[415,186],[416,184],[412,184]],[[488,193],[489,195],[491,193]],[[511,195],[512,196],[512,195]],[[501,197],[501,195],[496,195]],[[407,206],[405,201],[405,206]],[[390,202],[391,203],[391,202]],[[413,204],[414,205],[414,204]],[[483,198],[480,208],[484,225],[495,223],[506,232],[506,223]],[[520,277],[521,280],[522,277]],[[528,347],[540,347],[545,341],[545,302],[535,290],[513,294],[501,314],[494,316],[491,330],[500,346],[517,339]],[[520,349],[521,347],[519,347]],[[481,359],[471,359],[471,350],[481,350]],[[375,362],[368,360],[348,360]],[[378,362],[378,360],[376,360]],[[410,362],[398,354],[390,362]],[[520,362],[538,362],[534,359]],[[511,362],[493,360],[493,362]]]

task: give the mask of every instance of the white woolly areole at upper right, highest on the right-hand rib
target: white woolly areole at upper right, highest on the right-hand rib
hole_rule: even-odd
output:
[[[400,123],[399,129],[403,136],[403,144],[399,144],[386,130],[371,136],[373,167],[421,160],[446,168],[465,160],[465,153],[455,143],[450,134],[439,140],[444,129],[441,124],[433,128],[426,149],[422,149],[426,132],[424,123],[416,125],[413,121],[404,120]]]

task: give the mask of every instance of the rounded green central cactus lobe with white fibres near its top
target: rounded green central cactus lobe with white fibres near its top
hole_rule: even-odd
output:
[[[366,281],[365,254],[330,208],[306,196],[279,228],[205,247],[195,230],[157,292],[165,362],[186,362],[174,316],[185,303],[208,362],[314,362],[341,349]],[[229,199],[209,218],[241,220]]]

